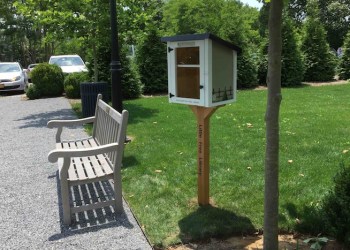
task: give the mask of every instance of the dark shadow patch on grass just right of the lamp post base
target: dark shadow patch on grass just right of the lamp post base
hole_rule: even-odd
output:
[[[146,108],[139,104],[126,103],[124,109],[129,111],[129,124],[142,122],[159,113],[158,109]]]

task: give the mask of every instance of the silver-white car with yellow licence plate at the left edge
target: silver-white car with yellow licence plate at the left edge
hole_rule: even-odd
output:
[[[28,78],[18,62],[0,62],[0,92],[26,91]]]

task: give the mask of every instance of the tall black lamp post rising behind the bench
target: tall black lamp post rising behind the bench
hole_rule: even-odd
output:
[[[116,0],[110,0],[111,8],[111,82],[112,82],[112,107],[118,112],[123,111],[121,64],[119,56],[118,26],[117,26],[117,6]]]

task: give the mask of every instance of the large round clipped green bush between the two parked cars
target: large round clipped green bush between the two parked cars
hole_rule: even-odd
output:
[[[64,75],[59,66],[41,63],[35,67],[31,77],[33,84],[41,96],[62,95]]]

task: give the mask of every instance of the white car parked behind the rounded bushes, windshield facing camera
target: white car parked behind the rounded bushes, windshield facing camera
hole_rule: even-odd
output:
[[[84,61],[78,55],[51,56],[49,64],[56,64],[61,67],[63,73],[87,72]]]

